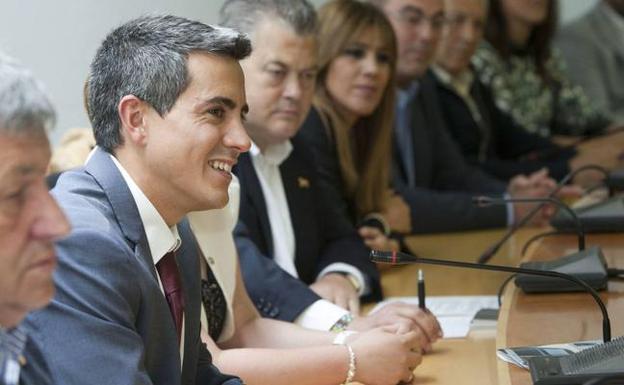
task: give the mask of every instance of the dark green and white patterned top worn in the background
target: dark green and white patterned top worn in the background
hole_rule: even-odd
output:
[[[532,56],[516,52],[505,60],[488,42],[477,50],[473,64],[496,105],[529,132],[545,137],[587,135],[611,123],[564,75],[565,62],[556,50],[546,62],[552,84],[539,75]]]

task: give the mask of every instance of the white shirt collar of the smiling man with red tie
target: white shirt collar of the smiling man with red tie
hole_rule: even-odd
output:
[[[141,222],[145,229],[147,244],[149,245],[154,265],[156,265],[165,254],[177,250],[182,244],[180,235],[178,234],[178,228],[177,226],[167,226],[165,220],[158,210],[156,210],[156,207],[154,207],[152,202],[145,196],[126,169],[114,156],[111,155],[111,158],[128,185],[132,198],[137,205],[139,216],[141,217]]]

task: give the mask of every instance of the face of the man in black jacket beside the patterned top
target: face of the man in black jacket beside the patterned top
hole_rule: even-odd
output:
[[[446,0],[444,28],[437,64],[452,75],[468,68],[485,26],[485,0]]]

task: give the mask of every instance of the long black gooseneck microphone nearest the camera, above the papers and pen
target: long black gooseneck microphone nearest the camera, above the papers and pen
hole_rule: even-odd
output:
[[[397,251],[390,252],[390,251],[372,250],[370,253],[370,259],[373,262],[387,263],[391,265],[424,263],[427,265],[441,265],[441,266],[459,267],[459,268],[474,269],[474,270],[488,270],[488,271],[500,271],[500,272],[513,273],[513,274],[539,275],[542,277],[559,278],[559,279],[564,279],[567,281],[574,282],[577,285],[585,288],[585,290],[594,298],[594,301],[596,301],[596,303],[598,304],[598,307],[600,308],[600,311],[602,312],[603,340],[604,342],[611,341],[611,321],[609,320],[609,314],[607,312],[607,308],[604,305],[604,302],[602,302],[596,290],[594,290],[591,286],[589,286],[584,281],[574,276],[559,273],[556,271],[548,271],[548,270],[525,269],[522,267],[511,267],[511,266],[500,266],[500,265],[482,265],[482,264],[470,263],[470,262],[423,258],[423,257],[416,257],[414,255],[410,255],[407,253],[397,252]]]

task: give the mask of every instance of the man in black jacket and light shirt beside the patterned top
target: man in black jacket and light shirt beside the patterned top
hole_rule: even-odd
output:
[[[518,126],[500,110],[475,75],[470,60],[483,39],[485,0],[446,0],[446,28],[432,76],[438,105],[451,136],[471,164],[507,181],[547,168],[561,179],[576,151]]]

